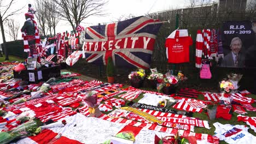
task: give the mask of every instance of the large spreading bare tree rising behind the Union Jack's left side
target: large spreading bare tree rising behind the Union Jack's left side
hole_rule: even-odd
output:
[[[57,11],[63,20],[68,21],[73,31],[80,22],[89,16],[103,16],[105,0],[53,0],[58,4]]]

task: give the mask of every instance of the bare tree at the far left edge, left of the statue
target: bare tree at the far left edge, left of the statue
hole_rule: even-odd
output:
[[[0,0],[0,7],[1,7],[1,9],[0,9],[0,27],[1,27],[2,38],[3,38],[5,60],[9,60],[9,56],[8,56],[8,49],[5,45],[6,40],[5,40],[5,35],[4,35],[3,23],[5,20],[8,19],[9,16],[19,14],[19,11],[25,7],[25,5],[24,5],[24,7],[20,8],[20,9],[14,9],[13,11],[11,11],[10,9],[14,4],[15,4],[15,0],[11,0],[9,2]]]

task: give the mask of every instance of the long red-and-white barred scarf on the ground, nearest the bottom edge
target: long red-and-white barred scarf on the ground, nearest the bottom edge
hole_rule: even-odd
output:
[[[155,124],[155,123],[141,123],[141,122],[135,122],[129,119],[124,119],[124,118],[110,118],[107,115],[102,114],[100,117],[101,119],[104,119],[106,121],[110,122],[115,122],[115,123],[124,123],[126,125],[131,125],[139,128],[144,128],[144,129],[150,129],[150,130],[155,130],[155,131],[161,131],[164,133],[168,134],[179,134],[179,136],[195,136],[196,140],[208,142],[208,143],[218,143],[219,139],[217,137],[214,137],[212,135],[208,134],[200,134],[200,133],[193,133],[189,130],[181,130],[181,129],[172,129],[172,128],[167,128],[167,127],[162,127],[161,125]]]

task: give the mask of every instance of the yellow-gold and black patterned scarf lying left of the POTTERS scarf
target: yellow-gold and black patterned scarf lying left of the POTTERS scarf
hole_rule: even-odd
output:
[[[140,111],[136,108],[132,108],[132,107],[121,107],[122,110],[126,110],[126,111],[130,111],[130,112],[133,112],[135,113],[136,115],[139,115],[145,119],[147,119],[149,122],[152,122],[152,123],[159,123],[159,124],[162,124],[163,121],[160,121],[158,118],[150,115],[149,113],[147,112],[143,112],[143,111]]]

